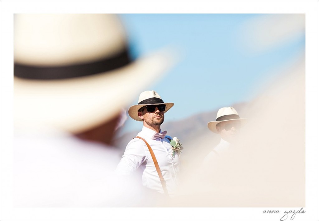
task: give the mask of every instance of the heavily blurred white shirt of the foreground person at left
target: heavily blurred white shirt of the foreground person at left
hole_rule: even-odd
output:
[[[121,154],[111,146],[61,132],[15,131],[13,150],[14,206],[126,207],[142,198],[133,181],[115,176]]]

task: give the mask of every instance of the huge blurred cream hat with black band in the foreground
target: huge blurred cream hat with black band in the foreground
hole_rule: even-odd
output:
[[[125,36],[114,14],[15,14],[15,127],[76,133],[118,114],[172,63],[131,61]]]

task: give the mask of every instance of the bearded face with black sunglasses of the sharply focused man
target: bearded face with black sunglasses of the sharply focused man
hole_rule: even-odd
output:
[[[163,104],[161,104],[163,105]],[[144,120],[143,121],[143,124],[147,124],[151,127],[154,127],[154,126],[158,126],[158,125],[161,125],[163,122],[164,122],[164,111],[165,111],[165,107],[164,107],[164,110],[163,110],[163,106],[157,106],[155,107],[155,105],[148,105],[148,109],[145,107],[142,111],[138,112],[138,116]],[[152,108],[154,109],[155,107],[155,110],[152,110]],[[160,110],[163,110],[163,111],[159,111]]]

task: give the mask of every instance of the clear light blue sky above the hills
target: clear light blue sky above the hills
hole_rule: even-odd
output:
[[[180,61],[172,69],[145,88],[157,91],[164,102],[175,103],[165,114],[165,121],[250,101],[264,81],[278,75],[274,70],[293,64],[305,50],[304,31],[275,46],[254,50],[251,35],[256,26],[250,23],[267,16],[120,14],[133,57],[167,46],[180,54]],[[128,118],[122,132],[141,126]]]

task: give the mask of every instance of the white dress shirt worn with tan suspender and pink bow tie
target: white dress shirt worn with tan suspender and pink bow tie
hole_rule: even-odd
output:
[[[143,126],[137,136],[144,138],[151,146],[166,181],[168,193],[173,194],[178,182],[180,158],[177,153],[172,156],[172,146],[167,138],[152,139],[155,133],[152,129]],[[164,193],[150,151],[142,139],[134,138],[126,146],[124,155],[115,171],[119,175],[131,175],[137,168],[142,170],[143,186]]]

